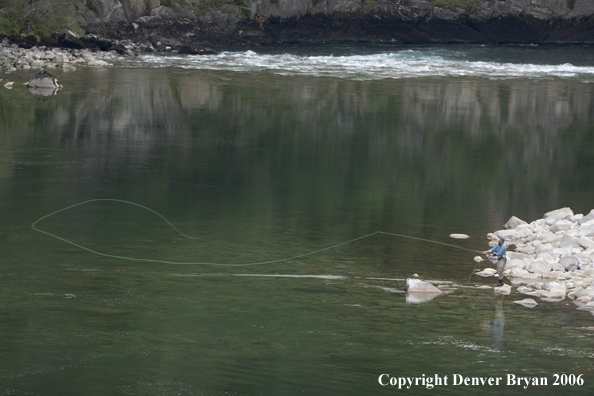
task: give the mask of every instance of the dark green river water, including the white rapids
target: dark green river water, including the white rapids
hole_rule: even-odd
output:
[[[591,48],[147,55],[45,99],[34,73],[0,74],[0,395],[594,391],[594,316],[471,276],[512,215],[594,208]]]

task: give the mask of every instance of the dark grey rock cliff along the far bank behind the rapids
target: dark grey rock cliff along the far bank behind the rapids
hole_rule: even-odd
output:
[[[154,45],[594,43],[591,0],[81,0],[86,30]]]

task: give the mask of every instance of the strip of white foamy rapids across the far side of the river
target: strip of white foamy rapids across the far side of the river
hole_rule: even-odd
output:
[[[594,81],[594,67],[514,62],[500,57],[488,59],[486,52],[465,56],[460,51],[408,49],[352,55],[301,55],[296,53],[256,53],[225,51],[216,56],[144,55],[142,66],[180,67],[198,70],[272,72],[280,75],[338,77],[354,80],[402,79],[416,77],[577,78]],[[552,63],[552,62],[551,62]]]

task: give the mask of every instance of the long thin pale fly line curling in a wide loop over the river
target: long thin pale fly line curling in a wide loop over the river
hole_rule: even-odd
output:
[[[360,241],[362,239],[366,239],[369,238],[371,236],[374,235],[389,235],[389,236],[395,236],[395,237],[400,237],[400,238],[408,238],[408,239],[413,239],[413,240],[417,240],[417,241],[423,241],[423,242],[430,242],[430,243],[434,243],[434,244],[439,244],[439,245],[443,245],[443,246],[448,246],[448,247],[453,247],[456,249],[461,249],[461,250],[466,250],[469,252],[475,252],[474,250],[471,249],[467,249],[461,246],[457,246],[457,245],[453,245],[450,243],[445,243],[445,242],[439,242],[439,241],[434,241],[434,240],[430,240],[430,239],[425,239],[425,238],[418,238],[418,237],[414,237],[414,236],[410,236],[410,235],[404,235],[404,234],[396,234],[393,232],[385,232],[385,231],[375,231],[372,232],[370,234],[366,234],[357,238],[353,238],[350,239],[348,241],[344,241],[344,242],[340,242],[337,243],[335,245],[331,245],[331,246],[327,246],[321,249],[316,249],[313,251],[309,251],[307,253],[302,253],[302,254],[298,254],[296,256],[291,256],[291,257],[285,257],[285,258],[280,258],[280,259],[274,259],[274,260],[266,260],[266,261],[258,261],[258,262],[253,262],[253,263],[238,263],[238,264],[234,264],[234,263],[214,263],[214,262],[207,262],[207,261],[197,261],[197,262],[184,262],[184,261],[172,261],[172,260],[161,260],[161,259],[150,259],[150,258],[140,258],[140,257],[129,257],[129,256],[120,256],[120,255],[115,255],[115,254],[109,254],[109,253],[103,253],[103,252],[99,252],[97,250],[94,249],[90,249],[86,246],[80,245],[70,239],[66,239],[63,238],[59,235],[56,235],[54,233],[48,232],[48,231],[44,231],[40,228],[37,227],[37,224],[45,219],[48,219],[52,216],[57,215],[58,213],[62,213],[62,212],[66,212],[68,210],[74,209],[76,207],[82,206],[82,205],[87,205],[93,202],[117,202],[117,203],[122,203],[122,204],[126,204],[126,205],[132,205],[132,206],[136,206],[138,208],[147,210],[153,214],[155,214],[156,216],[158,216],[159,218],[161,218],[173,231],[175,231],[177,234],[179,234],[180,236],[186,238],[186,239],[194,239],[194,240],[198,240],[198,239],[202,239],[201,237],[193,237],[190,236],[188,234],[185,234],[184,232],[180,231],[175,225],[173,225],[173,223],[171,223],[165,216],[161,215],[159,212],[146,207],[144,205],[135,203],[135,202],[131,202],[131,201],[126,201],[123,199],[115,199],[115,198],[96,198],[96,199],[89,199],[87,201],[83,201],[83,202],[79,202],[77,204],[74,205],[70,205],[67,206],[65,208],[56,210],[55,212],[49,213],[43,217],[40,217],[39,219],[37,219],[35,222],[33,222],[31,224],[31,228],[39,233],[45,234],[49,237],[52,237],[54,239],[57,239],[59,241],[62,241],[64,243],[67,243],[69,245],[72,245],[78,249],[87,251],[89,253],[98,255],[98,256],[102,256],[102,257],[107,257],[107,258],[113,258],[113,259],[118,259],[118,260],[127,260],[127,261],[144,261],[144,262],[149,262],[149,263],[158,263],[158,264],[172,264],[172,265],[212,265],[212,266],[224,266],[224,267],[247,267],[247,266],[254,266],[254,265],[266,265],[266,264],[274,264],[274,263],[280,263],[283,261],[290,261],[290,260],[296,260],[299,258],[303,258],[306,256],[311,256],[314,255],[316,253],[321,253],[324,252],[326,250],[331,250],[331,249],[335,249],[338,248],[340,246],[344,246],[344,245],[348,245],[350,243],[356,242],[356,241]]]

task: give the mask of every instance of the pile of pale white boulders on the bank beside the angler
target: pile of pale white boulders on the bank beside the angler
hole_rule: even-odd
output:
[[[594,315],[594,209],[585,216],[557,209],[531,223],[512,217],[505,229],[487,237],[493,246],[500,237],[506,239],[504,275],[519,293],[553,302],[570,298],[577,309]],[[477,275],[497,276],[493,268]],[[509,294],[511,289],[505,285],[494,290]],[[530,298],[516,302],[537,305]]]

